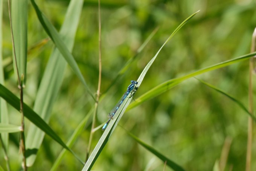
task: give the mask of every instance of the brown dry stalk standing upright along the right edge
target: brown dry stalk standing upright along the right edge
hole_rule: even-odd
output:
[[[251,39],[251,52],[255,51],[255,41],[256,41],[256,28],[254,29],[253,36]],[[248,87],[248,97],[249,97],[249,112],[253,113],[253,62],[255,57],[251,58],[249,61],[249,87]],[[251,170],[251,148],[252,148],[252,136],[253,136],[253,119],[248,118],[248,132],[247,132],[247,153],[246,153],[246,171]]]

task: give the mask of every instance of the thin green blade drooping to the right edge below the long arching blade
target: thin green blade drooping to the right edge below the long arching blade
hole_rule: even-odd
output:
[[[245,113],[247,113],[248,115],[250,115],[251,118],[253,118],[254,122],[256,122],[256,117],[254,117],[254,115],[252,115],[249,110],[244,106],[244,104],[241,103],[241,101],[237,100],[235,97],[232,97],[231,95],[227,94],[226,92],[222,91],[221,89],[218,89],[217,87],[204,82],[201,79],[197,79],[198,81],[200,81],[201,83],[203,83],[204,85],[207,85],[208,87],[220,92],[221,94],[225,95],[226,97],[230,98],[230,100],[234,101],[236,104],[238,104],[239,107],[241,107],[241,109],[243,109],[245,111]]]

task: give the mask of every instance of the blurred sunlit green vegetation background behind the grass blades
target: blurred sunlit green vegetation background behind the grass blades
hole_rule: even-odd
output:
[[[62,25],[68,0],[37,0],[38,6],[57,30]],[[117,73],[132,58],[151,32],[157,33],[99,103],[97,126],[107,120],[108,112],[136,80],[172,31],[187,17],[201,10],[162,49],[135,95],[139,97],[166,80],[250,52],[251,35],[256,27],[255,0],[102,0],[102,85],[105,92]],[[6,87],[18,95],[12,68],[12,44],[4,1],[3,58]],[[29,3],[28,63],[24,101],[33,106],[41,77],[53,50],[53,43],[35,47],[47,38]],[[31,50],[30,50],[31,49]],[[98,86],[98,1],[85,0],[72,51],[92,92]],[[248,60],[210,71],[198,78],[209,82],[248,104]],[[61,91],[54,104],[49,125],[66,142],[94,103],[79,79],[68,67]],[[20,124],[20,114],[8,106],[10,122]],[[230,140],[226,170],[245,170],[247,115],[233,101],[189,79],[164,94],[128,111],[120,121],[126,130],[142,139],[188,171],[213,170],[221,156],[225,139]],[[29,121],[26,120],[26,124]],[[27,127],[26,127],[27,128]],[[73,146],[85,159],[91,121]],[[26,134],[26,132],[25,132]],[[11,168],[20,168],[19,134],[10,135]],[[102,131],[93,138],[92,148]],[[254,129],[253,135],[256,132]],[[45,171],[53,165],[61,146],[45,136],[37,159],[29,170]],[[0,164],[5,165],[3,153]],[[256,170],[256,141],[253,140],[251,170]],[[59,170],[81,170],[70,153]],[[164,163],[137,144],[117,127],[94,163],[93,170],[163,170]],[[166,168],[166,170],[171,170]]]

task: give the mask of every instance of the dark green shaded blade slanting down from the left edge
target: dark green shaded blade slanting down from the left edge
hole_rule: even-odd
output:
[[[5,99],[16,110],[20,111],[20,99],[12,94],[12,92],[5,88],[5,86],[3,86],[2,84],[0,84],[0,97]],[[61,140],[61,138],[59,138],[59,136],[48,126],[48,124],[42,118],[40,118],[37,113],[34,112],[34,110],[27,106],[26,103],[24,103],[23,112],[24,116],[28,120],[34,123],[37,127],[39,127],[43,132],[49,135],[56,142],[58,142],[63,148],[69,150],[81,163],[83,163],[83,161],[79,159],[79,157],[76,156],[76,154],[69,147],[67,147],[67,145]],[[33,153],[33,151],[31,152]],[[28,155],[30,155],[31,152],[29,150],[26,151]]]

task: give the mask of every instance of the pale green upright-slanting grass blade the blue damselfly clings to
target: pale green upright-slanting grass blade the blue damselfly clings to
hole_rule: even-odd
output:
[[[194,14],[190,15],[190,17],[188,17],[186,20],[184,20],[178,27],[177,29],[174,30],[174,32],[171,34],[171,36],[169,36],[169,38],[165,41],[165,43],[162,45],[162,47],[157,51],[157,54],[155,54],[155,56],[151,59],[151,61],[149,61],[148,65],[146,65],[146,67],[144,68],[144,70],[142,71],[142,73],[140,74],[139,79],[137,80],[138,84],[137,86],[139,87],[140,83],[142,82],[146,72],[148,71],[149,67],[152,65],[152,63],[154,62],[155,58],[157,57],[158,53],[161,51],[161,49],[163,48],[163,46],[172,38],[172,36],[182,27],[184,26],[184,24],[190,20],[190,18],[192,18],[195,14],[197,14],[197,12],[195,12]],[[134,94],[133,94],[134,95]],[[130,94],[127,96],[130,97]],[[119,120],[122,118],[123,113],[125,112],[126,108],[128,107],[128,105],[130,104],[132,98],[126,98],[123,103],[121,104],[121,106],[119,107],[119,109],[117,110],[115,116],[116,118],[113,119],[113,121],[111,121],[108,124],[107,129],[104,131],[103,135],[101,136],[101,138],[98,141],[98,144],[96,145],[96,147],[94,148],[93,152],[91,153],[89,159],[87,160],[87,162],[84,165],[84,168],[82,169],[82,171],[87,171],[90,170],[94,164],[94,162],[96,161],[96,159],[98,158],[99,154],[101,153],[102,149],[105,147],[105,145],[107,144],[108,139],[110,138],[111,134],[113,133],[114,129],[116,128],[117,124],[119,123]]]

